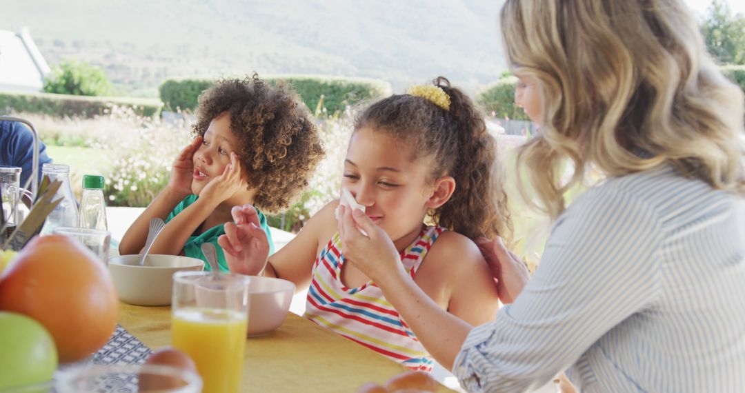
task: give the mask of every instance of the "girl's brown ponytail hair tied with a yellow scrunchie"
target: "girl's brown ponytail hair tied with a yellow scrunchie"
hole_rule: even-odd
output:
[[[449,110],[426,98],[392,95],[362,112],[355,131],[364,127],[399,138],[413,147],[416,159],[430,159],[432,180],[455,179],[452,197],[429,213],[435,224],[472,239],[500,235],[509,241],[513,227],[504,176],[484,114],[445,77],[433,83],[450,97]]]

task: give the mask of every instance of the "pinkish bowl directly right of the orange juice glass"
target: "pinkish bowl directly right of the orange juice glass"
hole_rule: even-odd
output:
[[[248,293],[248,336],[264,336],[285,322],[295,284],[282,278],[251,276]]]

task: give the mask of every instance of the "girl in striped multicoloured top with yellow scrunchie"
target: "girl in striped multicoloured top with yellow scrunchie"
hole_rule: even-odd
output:
[[[498,295],[471,239],[503,234],[509,223],[495,162],[483,115],[443,77],[362,112],[344,160],[342,187],[395,245],[400,267],[437,307],[475,325],[493,318]],[[433,360],[407,322],[367,275],[346,263],[337,205],[329,202],[268,260],[253,209],[235,211],[237,225],[226,224],[219,239],[230,270],[308,287],[305,317],[430,371]]]

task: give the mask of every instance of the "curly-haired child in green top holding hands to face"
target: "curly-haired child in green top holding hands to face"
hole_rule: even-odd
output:
[[[308,185],[323,147],[297,93],[256,74],[219,81],[200,95],[196,115],[194,141],[177,157],[165,189],[124,234],[119,252],[139,252],[150,220],[160,217],[166,226],[150,252],[206,261],[200,246],[214,243],[220,269],[227,271],[218,237],[232,221],[230,209],[255,205],[257,225],[273,249],[261,211],[288,208]]]

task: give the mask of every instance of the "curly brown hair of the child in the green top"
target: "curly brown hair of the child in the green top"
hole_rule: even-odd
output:
[[[257,74],[222,79],[199,96],[194,134],[204,135],[224,112],[241,143],[249,188],[256,189],[254,205],[268,213],[288,208],[325,154],[308,107],[290,86],[270,86]]]

